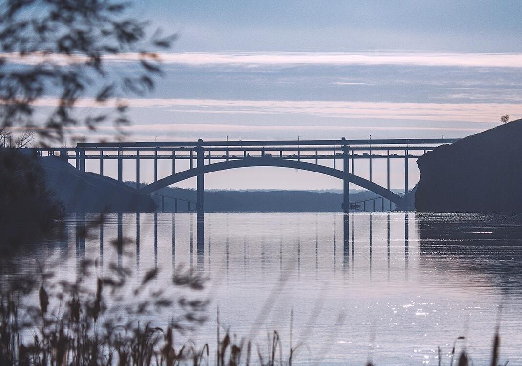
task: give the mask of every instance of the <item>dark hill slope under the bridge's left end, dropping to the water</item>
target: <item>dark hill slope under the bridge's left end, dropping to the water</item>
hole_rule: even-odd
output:
[[[48,188],[64,205],[66,212],[153,211],[156,204],[134,188],[112,178],[83,173],[55,157],[42,158]]]

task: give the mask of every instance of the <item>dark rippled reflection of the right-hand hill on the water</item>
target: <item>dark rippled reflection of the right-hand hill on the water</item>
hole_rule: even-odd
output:
[[[423,262],[436,258],[457,276],[488,276],[504,291],[518,291],[522,276],[522,216],[415,214]],[[458,258],[458,268],[454,265]]]

